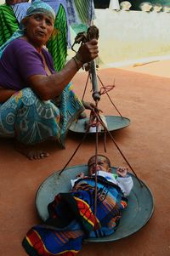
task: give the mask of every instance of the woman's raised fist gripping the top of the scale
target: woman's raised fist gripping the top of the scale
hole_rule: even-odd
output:
[[[76,54],[77,60],[81,61],[82,64],[88,63],[98,57],[98,40],[92,39],[87,43],[82,43]]]

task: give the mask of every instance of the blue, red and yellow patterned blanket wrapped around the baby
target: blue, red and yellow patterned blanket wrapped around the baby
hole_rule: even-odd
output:
[[[99,177],[95,215],[94,185],[93,178],[79,179],[71,192],[55,196],[46,222],[32,227],[23,240],[30,256],[76,255],[84,238],[115,232],[127,199],[116,185]]]

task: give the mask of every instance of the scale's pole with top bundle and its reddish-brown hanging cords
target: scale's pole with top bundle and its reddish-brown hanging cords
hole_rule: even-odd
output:
[[[73,43],[71,49],[73,51],[74,50],[74,45],[76,43],[86,43],[92,39],[98,39],[99,38],[99,29],[96,26],[89,26],[88,27],[88,31],[86,32],[81,32],[77,34],[77,37],[75,38],[75,42]],[[76,51],[75,51],[76,52]],[[84,136],[82,137],[81,142],[79,143],[79,145],[77,145],[77,149],[76,151],[73,152],[71,158],[69,159],[69,161],[65,164],[65,167],[59,172],[59,175],[62,174],[65,171],[65,168],[68,166],[68,164],[71,162],[71,159],[76,155],[78,149],[80,148],[80,146],[82,145],[82,142],[86,139],[89,128],[92,126],[92,124],[95,122],[96,123],[96,139],[95,139],[95,166],[97,167],[97,156],[98,156],[98,144],[99,144],[99,125],[103,126],[104,128],[104,146],[105,146],[105,151],[106,151],[106,134],[108,133],[111,137],[111,140],[113,141],[114,145],[116,145],[116,149],[120,152],[120,154],[122,155],[123,159],[125,160],[125,162],[127,162],[128,167],[132,170],[133,174],[135,175],[135,177],[138,179],[139,181],[139,185],[141,185],[141,187],[143,186],[142,182],[140,181],[140,179],[138,178],[137,174],[134,172],[133,167],[131,166],[131,164],[127,161],[127,158],[124,156],[124,154],[122,153],[120,147],[116,144],[115,139],[113,138],[113,136],[111,135],[111,132],[108,130],[108,128],[105,126],[105,123],[103,122],[103,120],[101,119],[101,117],[99,116],[99,108],[98,108],[98,103],[100,100],[100,96],[102,94],[107,94],[107,96],[109,97],[109,99],[111,100],[111,97],[109,96],[108,92],[113,89],[115,87],[114,85],[110,85],[110,86],[104,86],[103,82],[101,82],[101,79],[99,78],[99,76],[97,76],[96,74],[96,65],[95,65],[95,60],[92,60],[90,62],[89,65],[89,71],[88,71],[88,79],[86,82],[86,86],[84,89],[84,93],[82,96],[82,100],[84,98],[85,95],[85,91],[87,89],[88,86],[88,80],[90,77],[90,80],[92,82],[92,88],[93,88],[93,98],[95,101],[95,107],[93,110],[91,110],[90,112],[90,117],[89,117],[89,122],[88,125],[86,127],[86,132],[84,134]],[[99,90],[98,89],[98,81],[97,78],[99,79],[99,82],[102,84],[102,88]],[[102,91],[103,89],[103,91]],[[113,104],[112,100],[111,100],[111,104]],[[116,105],[114,105],[116,108]],[[116,111],[117,108],[116,108]],[[120,114],[120,116],[122,117],[121,113],[118,111],[118,113]],[[95,198],[94,198],[94,215],[96,216],[96,209],[97,209],[97,172],[95,171]]]

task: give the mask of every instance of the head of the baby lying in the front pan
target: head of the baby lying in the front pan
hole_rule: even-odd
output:
[[[111,173],[111,168],[109,168],[105,157],[98,156],[97,165],[95,165],[95,156],[90,160],[90,162],[88,163],[88,175],[91,176],[92,174],[95,174],[95,171],[104,171],[106,173]]]

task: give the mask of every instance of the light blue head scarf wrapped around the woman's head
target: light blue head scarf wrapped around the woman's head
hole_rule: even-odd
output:
[[[44,3],[40,0],[36,0],[34,1],[30,8],[27,9],[26,11],[26,16],[22,19],[24,20],[26,17],[29,17],[33,14],[46,14],[49,17],[51,17],[53,20],[55,20],[55,13],[54,13],[54,9],[52,9],[48,3]],[[20,22],[20,28],[14,32],[13,36],[10,37],[8,39],[8,41],[6,43],[4,43],[1,47],[0,47],[0,58],[3,54],[4,49],[8,46],[9,43],[11,43],[12,41],[14,41],[14,39],[19,38],[19,37],[23,37],[24,36],[24,26],[22,26],[22,20]]]

